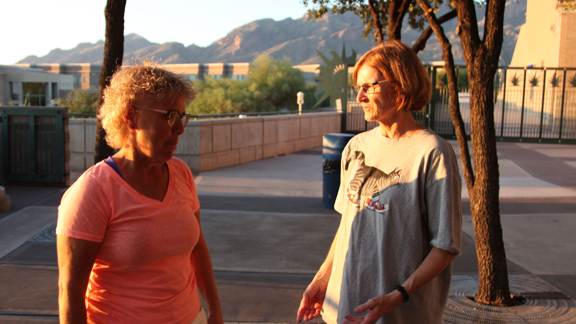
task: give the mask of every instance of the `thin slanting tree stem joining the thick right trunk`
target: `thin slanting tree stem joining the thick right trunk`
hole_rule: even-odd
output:
[[[458,102],[458,89],[456,87],[456,72],[454,71],[454,57],[452,55],[452,45],[444,33],[444,29],[440,25],[436,15],[431,7],[424,0],[416,0],[418,5],[424,11],[424,14],[430,23],[430,27],[434,30],[438,42],[442,46],[442,58],[444,59],[444,70],[448,78],[448,95],[450,116],[456,131],[456,138],[458,139],[458,148],[460,149],[460,161],[462,163],[464,180],[468,188],[468,194],[473,197],[475,176],[472,169],[470,160],[470,152],[468,150],[468,137],[466,135],[466,128],[464,127],[464,120],[460,114],[460,103]],[[472,198],[471,198],[472,199]]]

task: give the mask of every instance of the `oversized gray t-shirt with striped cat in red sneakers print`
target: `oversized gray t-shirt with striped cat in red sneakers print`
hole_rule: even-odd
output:
[[[376,127],[350,140],[324,321],[340,324],[356,306],[392,292],[432,246],[460,254],[461,186],[452,146],[430,129],[388,138]],[[452,264],[377,323],[441,323],[451,276]]]

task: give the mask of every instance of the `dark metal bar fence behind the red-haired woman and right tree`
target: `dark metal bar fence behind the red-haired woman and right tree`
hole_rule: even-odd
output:
[[[448,89],[436,87],[442,66],[429,66],[433,96],[416,121],[445,138],[454,139]],[[464,66],[457,69],[464,70]],[[458,93],[460,112],[470,135],[468,89]],[[346,131],[358,133],[376,127],[366,122],[362,106],[350,93]],[[494,78],[494,126],[499,141],[576,144],[576,68],[502,67]]]

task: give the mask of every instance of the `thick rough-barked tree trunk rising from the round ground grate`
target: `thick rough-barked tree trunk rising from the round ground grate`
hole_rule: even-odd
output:
[[[494,130],[494,74],[502,49],[505,0],[486,3],[484,37],[480,40],[473,0],[454,1],[457,33],[470,86],[470,133],[475,183],[470,195],[479,287],[476,302],[510,306],[506,253],[499,208],[499,171]]]

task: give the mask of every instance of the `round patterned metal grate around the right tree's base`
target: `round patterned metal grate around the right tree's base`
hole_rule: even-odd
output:
[[[478,276],[452,276],[443,323],[574,323],[576,301],[533,275],[509,276],[510,291],[525,303],[498,307],[476,303]],[[521,292],[521,293],[518,293]]]

